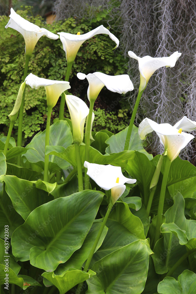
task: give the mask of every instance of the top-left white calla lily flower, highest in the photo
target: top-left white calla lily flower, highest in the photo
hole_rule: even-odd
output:
[[[12,28],[23,35],[25,41],[25,52],[28,55],[32,54],[37,41],[43,35],[46,35],[49,39],[58,39],[58,35],[32,24],[30,21],[18,15],[13,8],[11,8],[11,14],[9,17],[10,20],[8,24],[6,24],[5,28]]]

